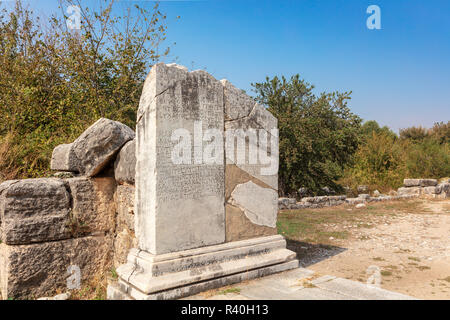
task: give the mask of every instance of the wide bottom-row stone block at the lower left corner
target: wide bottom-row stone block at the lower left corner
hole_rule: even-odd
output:
[[[85,237],[28,245],[0,244],[3,299],[32,299],[67,290],[68,268],[81,271],[81,286],[110,269],[110,237]]]

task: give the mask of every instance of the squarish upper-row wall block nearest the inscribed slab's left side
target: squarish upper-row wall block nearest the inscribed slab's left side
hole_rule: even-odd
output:
[[[114,230],[116,212],[114,178],[77,177],[64,181],[72,196],[70,227],[74,236]]]

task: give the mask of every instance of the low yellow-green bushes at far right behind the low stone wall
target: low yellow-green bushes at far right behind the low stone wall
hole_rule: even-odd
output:
[[[363,125],[363,128],[365,124]],[[373,123],[367,127],[379,128]],[[340,183],[356,188],[367,184],[372,190],[396,189],[404,178],[450,176],[450,143],[447,124],[431,129],[411,127],[400,131],[400,138],[387,130],[362,131],[362,142],[345,170]]]

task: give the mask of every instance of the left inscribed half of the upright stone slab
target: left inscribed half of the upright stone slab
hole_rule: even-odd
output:
[[[172,160],[173,131],[192,134],[200,121],[202,130],[223,132],[221,83],[204,71],[155,65],[144,84],[136,132],[136,236],[143,250],[160,254],[225,241],[223,163]],[[201,151],[194,148],[194,156]]]

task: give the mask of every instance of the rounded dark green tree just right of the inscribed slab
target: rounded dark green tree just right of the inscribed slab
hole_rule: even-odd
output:
[[[294,195],[300,187],[314,193],[340,189],[336,180],[358,147],[361,119],[350,112],[350,92],[313,94],[297,74],[252,84],[256,100],[278,119],[279,190]]]

